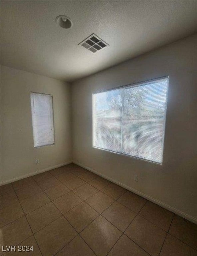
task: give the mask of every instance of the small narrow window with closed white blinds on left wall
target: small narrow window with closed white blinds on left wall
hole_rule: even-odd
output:
[[[53,96],[31,93],[34,147],[55,144],[53,122]]]

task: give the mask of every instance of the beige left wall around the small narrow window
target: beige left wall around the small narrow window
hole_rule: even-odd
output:
[[[34,148],[31,91],[53,95],[55,145]],[[1,66],[1,184],[72,161],[70,113],[68,83]]]

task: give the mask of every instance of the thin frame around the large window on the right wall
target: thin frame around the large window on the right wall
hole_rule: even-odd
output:
[[[148,160],[148,159],[144,159],[144,158],[141,158],[141,157],[137,157],[137,156],[132,156],[132,155],[129,155],[129,154],[126,154],[126,153],[121,153],[121,152],[112,151],[112,150],[108,150],[108,149],[99,148],[99,147],[94,146],[94,142],[95,142],[95,125],[94,125],[95,124],[95,94],[102,93],[102,92],[108,92],[108,91],[112,91],[112,90],[118,90],[118,89],[121,89],[121,88],[127,88],[127,89],[128,88],[133,88],[133,87],[137,87],[137,86],[140,86],[140,85],[143,85],[143,84],[146,84],[146,83],[151,83],[151,82],[161,80],[161,79],[168,79],[168,86],[167,86],[167,91],[166,91],[166,107],[165,107],[165,116],[164,116],[163,141],[162,141],[163,148],[162,148],[162,161],[161,161],[161,163],[151,161],[151,160]],[[150,80],[145,80],[145,81],[141,81],[141,82],[137,82],[137,83],[121,85],[121,86],[118,86],[118,87],[115,87],[115,88],[110,88],[110,89],[107,89],[107,90],[99,90],[99,91],[93,92],[92,93],[92,147],[96,148],[96,149],[104,150],[104,151],[107,151],[107,152],[110,152],[110,153],[115,153],[115,154],[118,154],[118,155],[123,155],[123,156],[126,156],[126,157],[131,157],[131,158],[134,158],[134,159],[143,160],[143,161],[150,162],[150,163],[153,163],[153,164],[162,165],[163,164],[164,148],[165,148],[164,138],[165,138],[166,116],[167,116],[167,106],[168,106],[168,90],[169,90],[169,84],[170,84],[169,82],[170,82],[170,78],[169,78],[169,75],[167,75],[167,76],[162,76],[162,77],[158,77],[158,78],[154,78],[154,79],[150,79]]]

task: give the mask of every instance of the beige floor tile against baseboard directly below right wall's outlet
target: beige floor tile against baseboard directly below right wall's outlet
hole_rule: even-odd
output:
[[[130,191],[127,191],[117,201],[128,207],[130,210],[138,213],[147,200]]]

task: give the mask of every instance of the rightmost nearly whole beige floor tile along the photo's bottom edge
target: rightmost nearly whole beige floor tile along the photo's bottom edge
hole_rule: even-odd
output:
[[[124,232],[136,244],[152,256],[158,256],[166,232],[137,215]]]

